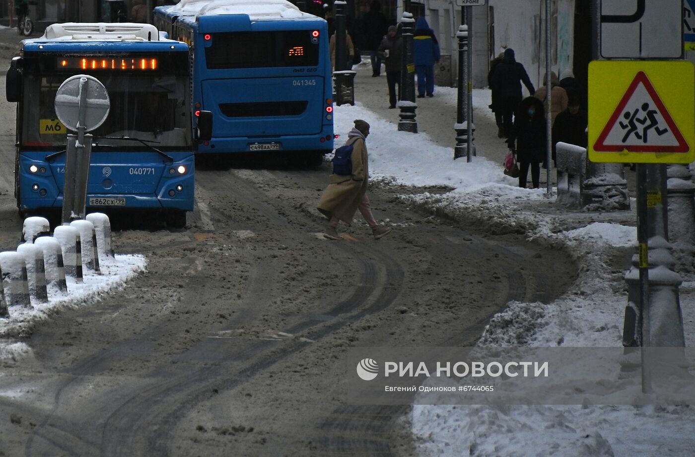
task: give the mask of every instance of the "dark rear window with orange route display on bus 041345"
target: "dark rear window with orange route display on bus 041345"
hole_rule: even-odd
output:
[[[319,40],[312,31],[212,33],[208,69],[316,67]]]

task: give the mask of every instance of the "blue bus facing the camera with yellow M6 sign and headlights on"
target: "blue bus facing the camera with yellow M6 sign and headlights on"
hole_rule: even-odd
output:
[[[88,211],[157,210],[171,226],[185,225],[195,188],[189,65],[188,45],[150,24],[53,24],[22,41],[6,80],[8,101],[17,102],[20,214],[63,204],[66,128],[56,117],[56,90],[89,74],[108,90],[111,112],[90,132]]]

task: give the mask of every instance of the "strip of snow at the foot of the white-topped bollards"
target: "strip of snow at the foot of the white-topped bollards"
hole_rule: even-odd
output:
[[[67,294],[61,294],[57,289],[49,288],[47,304],[33,303],[31,309],[11,306],[10,318],[0,319],[0,336],[22,335],[35,322],[47,318],[55,310],[94,301],[101,294],[122,286],[128,279],[145,271],[145,265],[147,265],[145,257],[139,255],[117,255],[115,258],[104,258],[100,263],[101,274],[85,271],[81,284],[67,277]]]

